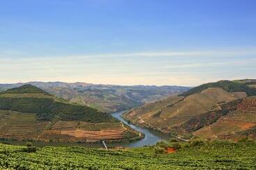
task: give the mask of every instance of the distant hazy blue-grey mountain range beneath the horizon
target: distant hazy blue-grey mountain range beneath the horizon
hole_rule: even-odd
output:
[[[71,103],[86,105],[102,112],[128,110],[146,102],[158,101],[171,94],[186,92],[190,87],[180,86],[121,86],[94,85],[90,83],[29,82],[0,84],[0,92],[25,84],[34,85]]]

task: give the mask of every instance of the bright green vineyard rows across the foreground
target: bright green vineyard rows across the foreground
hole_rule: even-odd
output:
[[[156,155],[152,147],[105,151],[82,147],[0,144],[0,169],[256,169],[256,144],[214,142]]]

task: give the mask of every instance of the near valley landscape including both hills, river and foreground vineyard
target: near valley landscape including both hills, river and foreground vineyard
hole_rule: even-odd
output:
[[[3,91],[0,168],[255,169],[256,96],[224,89],[207,85],[112,114],[33,85]]]

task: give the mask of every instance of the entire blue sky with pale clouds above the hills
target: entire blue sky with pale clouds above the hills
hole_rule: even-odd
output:
[[[2,0],[0,83],[256,78],[256,1]]]

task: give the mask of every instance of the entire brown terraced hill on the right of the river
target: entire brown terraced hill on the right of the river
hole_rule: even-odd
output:
[[[125,119],[189,137],[256,137],[256,80],[221,80],[130,110]],[[246,131],[247,130],[247,131]]]

